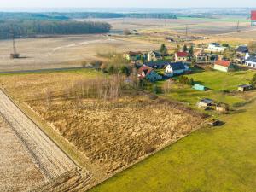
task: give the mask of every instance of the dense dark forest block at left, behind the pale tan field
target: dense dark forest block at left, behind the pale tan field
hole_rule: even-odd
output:
[[[111,26],[105,22],[70,20],[2,20],[0,39],[33,37],[55,34],[90,34],[109,32]]]

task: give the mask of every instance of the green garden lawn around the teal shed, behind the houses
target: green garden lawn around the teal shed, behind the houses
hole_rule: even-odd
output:
[[[252,79],[253,71],[237,71],[231,73],[224,73],[218,71],[197,71],[188,75],[189,78],[193,78],[195,84],[202,84],[208,87],[210,90],[199,91],[194,90],[189,86],[182,84],[173,84],[171,93],[166,97],[178,100],[180,102],[186,102],[192,107],[195,106],[202,98],[211,98],[216,102],[225,102],[230,106],[244,102],[245,97],[239,93],[224,93],[223,90],[237,90],[237,86],[240,84],[247,84]],[[158,84],[163,84],[159,82]]]

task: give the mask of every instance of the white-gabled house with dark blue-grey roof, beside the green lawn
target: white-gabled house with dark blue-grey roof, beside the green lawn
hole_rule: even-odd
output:
[[[189,71],[189,66],[183,64],[183,62],[169,62],[166,66],[165,74],[168,77],[179,75]]]

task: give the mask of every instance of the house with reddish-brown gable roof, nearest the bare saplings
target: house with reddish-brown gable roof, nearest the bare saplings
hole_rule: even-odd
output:
[[[139,79],[148,79],[151,82],[162,79],[162,76],[154,71],[153,68],[143,65],[137,70],[137,77]]]

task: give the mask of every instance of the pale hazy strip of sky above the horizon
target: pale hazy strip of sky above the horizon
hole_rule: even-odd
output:
[[[256,7],[256,0],[0,0],[0,8]]]

